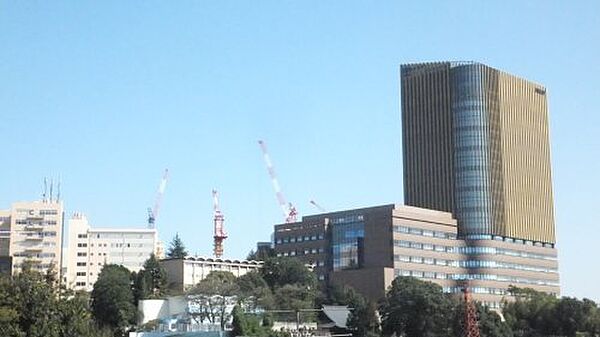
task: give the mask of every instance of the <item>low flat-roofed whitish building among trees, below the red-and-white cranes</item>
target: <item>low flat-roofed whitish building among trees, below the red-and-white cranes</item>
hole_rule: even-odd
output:
[[[160,264],[167,272],[169,288],[188,290],[202,281],[212,271],[228,271],[240,277],[262,267],[262,261],[228,260],[205,257],[164,259]]]

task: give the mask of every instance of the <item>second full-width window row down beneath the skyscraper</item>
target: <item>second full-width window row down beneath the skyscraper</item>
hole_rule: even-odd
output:
[[[422,256],[407,256],[407,255],[394,255],[394,261],[399,262],[410,262],[410,263],[422,263],[438,266],[450,266],[450,267],[462,267],[462,268],[497,268],[497,269],[515,269],[525,270],[543,273],[558,273],[555,268],[545,268],[538,266],[522,265],[515,263],[506,263],[500,261],[481,261],[481,260],[445,260],[445,259],[434,259],[431,257]]]

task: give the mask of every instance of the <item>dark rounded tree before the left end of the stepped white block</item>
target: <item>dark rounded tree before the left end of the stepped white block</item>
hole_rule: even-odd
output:
[[[92,290],[92,313],[96,321],[116,334],[124,333],[135,323],[133,300],[129,270],[114,264],[105,265]]]

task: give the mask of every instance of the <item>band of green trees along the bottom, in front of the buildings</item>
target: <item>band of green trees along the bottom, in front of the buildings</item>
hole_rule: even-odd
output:
[[[168,257],[187,255],[176,236]],[[396,278],[384,299],[369,301],[349,287],[322,286],[297,259],[263,254],[263,267],[241,277],[215,271],[185,293],[195,304],[196,322],[225,328],[231,336],[289,337],[273,331],[274,320],[295,320],[295,313],[324,304],[351,308],[347,326],[353,336],[461,337],[465,303],[444,293],[437,284],[413,277]],[[105,265],[91,293],[59,285],[56,272],[34,271],[25,264],[14,276],[0,277],[0,336],[108,337],[124,336],[137,327],[137,303],[174,293],[154,255],[138,273]],[[511,288],[513,300],[501,312],[476,304],[482,337],[600,336],[600,308],[589,300],[555,296],[531,289]],[[232,312],[227,306],[235,305]],[[283,312],[283,313],[282,313]],[[287,314],[286,314],[287,313]],[[282,317],[288,315],[287,317]],[[303,313],[302,321],[323,318],[318,311]],[[156,323],[156,322],[154,322]]]

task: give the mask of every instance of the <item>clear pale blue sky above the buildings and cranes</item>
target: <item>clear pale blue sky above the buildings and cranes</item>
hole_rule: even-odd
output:
[[[563,292],[600,300],[600,2],[3,1],[0,208],[61,176],[94,226],[157,221],[226,255],[280,209],[267,141],[301,214],[402,202],[399,64],[475,60],[547,86]]]

